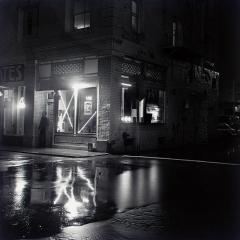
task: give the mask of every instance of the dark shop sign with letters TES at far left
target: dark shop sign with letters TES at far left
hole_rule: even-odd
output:
[[[0,67],[0,82],[23,81],[24,65],[9,65]]]

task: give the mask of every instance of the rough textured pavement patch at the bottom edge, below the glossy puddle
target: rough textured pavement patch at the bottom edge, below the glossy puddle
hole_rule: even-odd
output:
[[[168,220],[158,204],[117,213],[112,219],[63,228],[41,240],[165,240]]]

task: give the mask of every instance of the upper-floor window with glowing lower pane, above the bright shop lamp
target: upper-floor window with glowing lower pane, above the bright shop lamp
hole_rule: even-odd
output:
[[[74,0],[74,29],[90,27],[90,6],[88,0]]]

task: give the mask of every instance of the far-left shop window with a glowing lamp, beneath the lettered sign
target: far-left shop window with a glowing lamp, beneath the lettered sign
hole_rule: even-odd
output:
[[[25,87],[4,90],[4,135],[24,135]]]

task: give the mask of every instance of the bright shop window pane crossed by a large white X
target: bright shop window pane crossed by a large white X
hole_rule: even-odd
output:
[[[73,91],[58,91],[57,132],[73,133],[74,124],[74,93]]]

